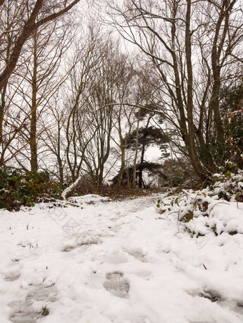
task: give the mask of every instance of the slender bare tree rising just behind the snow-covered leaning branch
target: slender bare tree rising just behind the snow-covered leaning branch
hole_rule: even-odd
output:
[[[101,61],[99,30],[90,26],[74,48],[74,57],[70,64],[74,66],[69,75],[69,91],[66,94],[66,161],[74,182],[79,178],[87,146],[94,133],[89,118],[89,96],[94,91],[96,68]],[[66,91],[66,90],[65,90]]]

